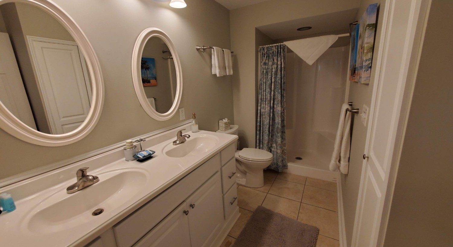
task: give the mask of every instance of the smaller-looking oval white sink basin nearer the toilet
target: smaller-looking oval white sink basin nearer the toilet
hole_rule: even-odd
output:
[[[215,136],[193,136],[179,145],[169,143],[169,145],[164,148],[164,154],[172,158],[202,155],[207,151],[210,151],[216,144],[217,138]]]

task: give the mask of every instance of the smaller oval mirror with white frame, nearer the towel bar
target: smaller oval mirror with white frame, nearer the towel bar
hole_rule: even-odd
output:
[[[176,113],[183,83],[181,65],[173,42],[162,30],[149,28],[140,34],[132,75],[135,93],[149,116],[165,121]]]

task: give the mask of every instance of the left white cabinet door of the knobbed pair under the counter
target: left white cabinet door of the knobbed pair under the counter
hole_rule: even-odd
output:
[[[190,247],[187,203],[181,203],[134,247]]]

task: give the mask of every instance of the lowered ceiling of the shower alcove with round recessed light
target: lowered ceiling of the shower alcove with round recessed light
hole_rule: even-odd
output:
[[[310,16],[302,19],[284,21],[257,27],[271,39],[286,39],[310,34],[333,32],[349,29],[349,23],[355,21],[357,8],[325,15]],[[298,31],[300,27],[310,26],[312,29]]]

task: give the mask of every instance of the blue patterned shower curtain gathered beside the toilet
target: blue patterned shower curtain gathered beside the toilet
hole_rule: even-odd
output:
[[[260,48],[260,86],[256,147],[271,152],[274,160],[267,167],[281,172],[288,168],[285,133],[285,55],[286,45]]]

